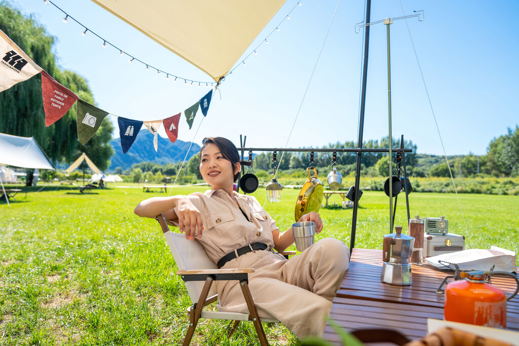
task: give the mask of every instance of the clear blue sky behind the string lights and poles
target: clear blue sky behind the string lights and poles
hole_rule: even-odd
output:
[[[52,1],[132,56],[187,79],[211,81],[91,1]],[[128,56],[121,57],[118,50],[102,48],[99,38],[81,36],[84,28],[79,24],[63,23],[62,12],[43,0],[11,3],[56,37],[53,52],[59,65],[84,76],[97,106],[107,112],[138,120],[163,119],[183,112],[209,91],[167,80],[142,64],[129,64]],[[296,3],[285,3],[244,56]],[[199,113],[191,130],[181,120],[180,140],[200,143],[205,136],[217,135],[238,145],[243,134],[248,147],[285,146],[337,6],[335,0],[301,3],[269,37],[269,44],[261,45],[247,65],[226,78],[221,94],[213,95],[207,118],[202,121]],[[407,24],[446,153],[483,155],[494,137],[519,122],[519,2],[373,0],[371,21],[411,15],[413,10],[425,11],[424,21],[411,18]],[[288,147],[357,140],[363,36],[355,33],[354,24],[363,17],[364,2],[340,2]],[[403,134],[418,146],[418,153],[441,155],[406,22],[394,21],[390,30],[393,137]],[[369,54],[364,140],[380,140],[389,127],[386,25],[372,26]],[[117,128],[116,117],[107,119]]]

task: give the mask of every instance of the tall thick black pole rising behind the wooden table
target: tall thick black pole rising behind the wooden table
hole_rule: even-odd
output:
[[[370,22],[371,0],[366,0],[366,19],[365,23]],[[367,81],[367,56],[370,48],[370,26],[366,26],[366,34],[364,36],[364,64],[362,67],[362,90],[360,101],[360,118],[359,118],[359,138],[357,147],[362,149],[362,141],[364,134],[364,108],[366,106],[366,81]],[[351,237],[350,237],[350,254],[355,246],[355,231],[357,230],[357,209],[359,207],[359,186],[360,186],[360,164],[362,161],[362,151],[357,152],[357,165],[355,168],[355,195],[353,197],[353,214],[351,216]]]

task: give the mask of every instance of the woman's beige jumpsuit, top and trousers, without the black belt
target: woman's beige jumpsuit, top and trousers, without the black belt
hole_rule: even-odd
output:
[[[188,196],[206,228],[199,241],[215,263],[250,243],[264,242],[274,247],[272,231],[278,229],[274,220],[254,197],[237,192],[234,196],[249,220],[223,190]],[[348,261],[346,244],[325,238],[289,260],[270,251],[253,251],[228,261],[222,268],[254,268],[255,272],[249,274],[249,288],[258,313],[276,317],[301,339],[323,334]],[[237,281],[215,283],[221,311],[248,313]]]

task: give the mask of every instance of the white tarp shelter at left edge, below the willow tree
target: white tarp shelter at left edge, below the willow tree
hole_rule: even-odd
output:
[[[0,133],[0,164],[14,167],[53,170],[34,137]]]

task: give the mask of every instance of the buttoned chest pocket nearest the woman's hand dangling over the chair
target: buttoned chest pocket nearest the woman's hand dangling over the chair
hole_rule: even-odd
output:
[[[204,226],[207,235],[216,246],[235,242],[241,234],[234,223],[231,212],[213,213],[206,217]]]

